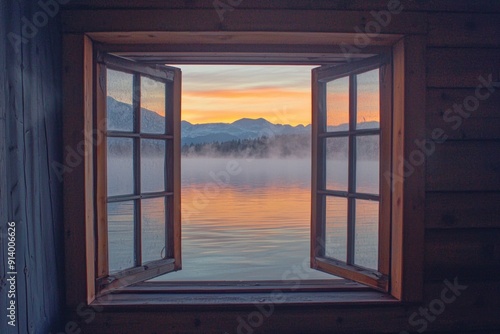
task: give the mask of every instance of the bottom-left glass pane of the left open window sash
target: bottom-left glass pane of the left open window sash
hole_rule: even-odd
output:
[[[134,202],[108,204],[109,272],[135,266]]]

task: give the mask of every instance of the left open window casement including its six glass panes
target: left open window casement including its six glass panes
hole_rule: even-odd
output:
[[[105,292],[181,269],[181,71],[99,54],[96,78],[104,134],[96,150],[96,290]]]

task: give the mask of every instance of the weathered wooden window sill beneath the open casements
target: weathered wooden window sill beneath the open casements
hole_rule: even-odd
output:
[[[389,294],[347,280],[266,282],[146,282],[98,297],[92,306],[105,311],[168,310],[172,308],[391,305]]]

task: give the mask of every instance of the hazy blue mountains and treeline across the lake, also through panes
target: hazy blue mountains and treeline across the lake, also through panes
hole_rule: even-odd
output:
[[[108,128],[110,130],[132,130],[132,106],[111,97],[108,103]],[[154,111],[141,109],[142,131],[159,133],[164,129],[164,117]],[[365,122],[360,128],[372,128],[377,122]],[[347,124],[329,126],[329,131],[347,130]],[[181,145],[184,155],[233,155],[233,156],[308,156],[310,155],[311,126],[273,124],[264,118],[242,118],[232,123],[192,124],[181,122]],[[358,151],[361,157],[376,158],[378,141],[371,137],[360,139]],[[126,151],[111,143],[111,153]],[[156,151],[157,148],[152,148]],[[158,149],[159,150],[159,149]],[[331,140],[327,151],[337,157],[347,154],[347,141]]]

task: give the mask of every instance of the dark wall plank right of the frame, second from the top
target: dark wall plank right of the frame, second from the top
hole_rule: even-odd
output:
[[[500,47],[499,14],[429,14],[428,46]]]

